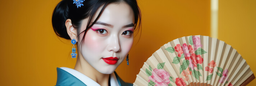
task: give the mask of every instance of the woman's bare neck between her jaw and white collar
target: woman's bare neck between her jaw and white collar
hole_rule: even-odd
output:
[[[87,77],[91,78],[101,86],[108,86],[109,74],[103,74],[93,68],[78,51],[78,57],[74,70],[83,73]]]

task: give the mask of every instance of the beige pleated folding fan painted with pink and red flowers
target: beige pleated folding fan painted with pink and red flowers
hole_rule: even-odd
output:
[[[195,35],[164,44],[144,62],[134,86],[245,86],[255,76],[236,49]]]

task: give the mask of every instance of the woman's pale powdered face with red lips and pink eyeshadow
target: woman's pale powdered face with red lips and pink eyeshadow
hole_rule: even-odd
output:
[[[85,30],[87,22],[88,19],[83,20],[80,33]],[[80,52],[97,71],[113,73],[132,47],[133,30],[134,14],[131,7],[126,3],[109,4],[96,23],[87,30],[84,42],[79,46]],[[83,34],[79,35],[78,45]]]

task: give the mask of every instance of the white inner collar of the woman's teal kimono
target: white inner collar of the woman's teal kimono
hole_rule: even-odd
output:
[[[100,86],[99,83],[97,83],[94,80],[92,80],[91,78],[85,76],[81,72],[78,72],[78,71],[76,71],[74,69],[67,68],[67,67],[60,67],[60,68],[63,69],[64,71],[67,71],[71,75],[75,76],[76,78],[78,78],[80,81],[82,81],[87,86]],[[119,86],[119,83],[117,81],[115,73],[111,73],[110,74],[110,85],[111,86]]]

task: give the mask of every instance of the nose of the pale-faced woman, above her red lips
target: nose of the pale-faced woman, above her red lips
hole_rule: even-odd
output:
[[[116,35],[113,35],[112,37],[109,38],[109,45],[107,47],[108,51],[113,51],[113,52],[119,52],[121,51],[120,44],[119,44],[119,38]]]

